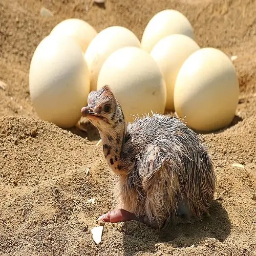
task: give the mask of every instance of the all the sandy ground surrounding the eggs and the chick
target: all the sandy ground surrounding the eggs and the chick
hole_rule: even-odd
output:
[[[41,17],[41,7],[54,17]],[[166,8],[188,17],[201,47],[238,56],[237,116],[228,129],[203,135],[218,179],[211,216],[160,231],[106,223],[96,245],[91,228],[113,207],[113,175],[92,126],[66,131],[38,119],[30,60],[62,19],[82,18],[97,31],[121,25],[141,38],[148,20]],[[107,0],[105,9],[89,0],[0,0],[0,254],[256,255],[255,11],[254,0]]]

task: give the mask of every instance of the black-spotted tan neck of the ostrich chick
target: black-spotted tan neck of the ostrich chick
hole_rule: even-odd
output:
[[[127,132],[127,123],[125,120],[116,123],[112,131],[100,132],[103,146],[103,153],[106,161],[117,175],[125,175],[126,170],[124,161],[121,159],[124,136]]]

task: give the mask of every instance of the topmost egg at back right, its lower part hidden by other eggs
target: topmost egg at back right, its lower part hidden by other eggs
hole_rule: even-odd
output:
[[[160,11],[146,25],[141,48],[151,52],[158,41],[172,34],[183,34],[194,39],[193,27],[181,12],[169,9]]]

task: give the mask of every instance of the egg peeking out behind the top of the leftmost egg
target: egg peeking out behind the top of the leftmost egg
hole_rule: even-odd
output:
[[[69,18],[57,24],[51,34],[73,37],[82,51],[86,52],[90,42],[97,35],[97,31],[82,19]]]

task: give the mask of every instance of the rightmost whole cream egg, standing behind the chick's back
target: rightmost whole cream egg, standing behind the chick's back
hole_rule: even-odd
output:
[[[230,124],[238,105],[239,82],[226,54],[203,48],[183,63],[174,89],[174,106],[187,125],[211,132]]]

